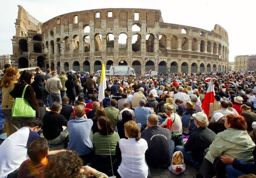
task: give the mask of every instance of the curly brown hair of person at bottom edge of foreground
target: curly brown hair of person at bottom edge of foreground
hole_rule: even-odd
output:
[[[66,151],[55,155],[45,167],[44,177],[80,178],[83,161],[78,154]]]

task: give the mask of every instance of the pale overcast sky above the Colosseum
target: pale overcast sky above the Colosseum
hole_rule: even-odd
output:
[[[11,38],[15,35],[17,5],[45,22],[61,14],[101,8],[159,9],[166,23],[213,30],[222,26],[229,37],[229,61],[236,55],[256,53],[255,0],[7,0],[0,7],[0,54],[12,54]]]

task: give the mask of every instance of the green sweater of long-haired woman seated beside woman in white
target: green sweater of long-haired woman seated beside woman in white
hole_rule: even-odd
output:
[[[111,155],[116,154],[116,145],[120,140],[119,135],[114,132],[111,135],[101,135],[100,133],[95,133],[93,135],[93,150],[95,154],[99,155],[109,155],[109,145],[108,145],[108,136],[109,136],[109,144]]]

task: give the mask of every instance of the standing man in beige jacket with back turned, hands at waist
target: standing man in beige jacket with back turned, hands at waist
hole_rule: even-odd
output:
[[[52,103],[62,103],[60,96],[60,89],[62,88],[60,79],[56,77],[57,72],[52,71],[52,77],[49,78],[45,84],[45,89],[50,93]]]

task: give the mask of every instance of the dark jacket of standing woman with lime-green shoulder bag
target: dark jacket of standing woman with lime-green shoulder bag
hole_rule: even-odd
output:
[[[27,84],[26,83],[16,83],[14,85],[14,88],[13,90],[10,92],[10,95],[15,99],[15,98],[21,98],[22,96],[22,92],[23,92],[23,89],[25,88]],[[28,100],[28,103],[30,104],[30,106],[36,110],[36,117],[37,118],[40,118],[40,108],[38,106],[38,102],[37,102],[37,99],[36,99],[36,95],[35,95],[35,91],[33,89],[32,86],[27,86],[26,88],[26,91],[25,91],[25,95],[24,95],[24,98],[26,100]],[[12,109],[12,108],[10,108]]]

